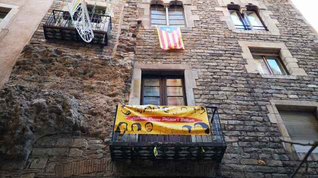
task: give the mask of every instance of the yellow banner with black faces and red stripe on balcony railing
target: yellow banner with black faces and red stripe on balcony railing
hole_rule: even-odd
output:
[[[207,109],[202,106],[118,105],[116,134],[209,135]]]

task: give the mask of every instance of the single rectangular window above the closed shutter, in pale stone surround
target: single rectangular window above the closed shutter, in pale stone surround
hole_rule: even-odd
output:
[[[261,74],[289,75],[278,54],[252,53]]]

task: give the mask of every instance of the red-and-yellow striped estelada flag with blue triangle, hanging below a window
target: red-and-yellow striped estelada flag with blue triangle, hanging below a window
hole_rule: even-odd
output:
[[[157,27],[161,49],[184,49],[180,27]]]

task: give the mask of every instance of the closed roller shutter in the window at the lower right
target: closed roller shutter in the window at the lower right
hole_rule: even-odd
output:
[[[318,119],[313,112],[279,111],[284,125],[294,142],[313,143],[318,140]],[[311,146],[294,145],[299,153],[308,152]],[[318,153],[316,148],[313,153]]]

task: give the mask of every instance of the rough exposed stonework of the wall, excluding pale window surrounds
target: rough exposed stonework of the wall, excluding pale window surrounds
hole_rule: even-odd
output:
[[[234,32],[222,19],[224,13],[218,8],[219,1],[191,0],[191,5],[196,6],[192,14],[199,15],[200,20],[194,21],[193,28],[181,29],[186,48],[183,51],[162,51],[155,28],[137,26],[137,19],[144,10],[138,8],[142,0],[112,2],[118,5],[112,19],[112,41],[102,49],[79,43],[47,42],[40,26],[31,45],[16,63],[10,81],[0,92],[0,104],[6,108],[0,109],[0,116],[6,117],[1,121],[1,127],[8,126],[8,129],[1,129],[0,140],[11,143],[11,146],[1,144],[1,154],[8,158],[21,155],[16,150],[26,150],[28,154],[23,170],[12,172],[2,166],[0,173],[4,177],[21,174],[30,177],[114,177],[118,171],[110,160],[107,143],[112,129],[110,123],[115,104],[128,103],[135,61],[187,64],[197,71],[197,88],[193,89],[195,104],[219,107],[228,142],[223,161],[217,167],[217,177],[287,178],[301,157],[284,148],[280,142],[282,134],[277,124],[270,122],[270,111],[266,106],[270,105],[271,99],[318,101],[318,36],[288,0],[262,0],[271,12],[271,19],[277,20],[280,35]],[[55,0],[52,8],[61,3]],[[307,76],[268,79],[247,73],[247,62],[239,41],[284,43]],[[66,99],[51,98],[58,90]],[[9,92],[13,94],[8,95]],[[17,99],[11,101],[13,97]],[[34,100],[39,104],[32,104]],[[52,100],[53,104],[50,104]],[[61,103],[76,103],[70,110],[76,110],[80,119],[70,122],[70,118],[60,116],[70,112],[68,107],[61,106],[61,109]],[[61,124],[65,122],[66,129],[54,135],[34,132],[34,122],[26,120],[38,120],[32,116],[38,107],[49,111],[55,108],[54,111],[60,113],[57,117],[54,112],[44,110],[43,114],[50,119],[40,119],[42,125],[64,128]],[[26,129],[10,126],[16,120],[25,121],[19,123]],[[27,140],[32,144],[21,142],[19,135],[23,133],[31,135]],[[16,141],[8,141],[10,136]],[[14,148],[16,143],[20,143],[19,149]],[[299,178],[317,177],[318,162],[313,161],[315,159],[317,157],[313,155],[308,170],[302,168]],[[116,175],[126,176],[129,175]]]

